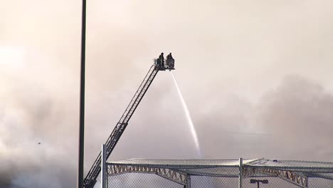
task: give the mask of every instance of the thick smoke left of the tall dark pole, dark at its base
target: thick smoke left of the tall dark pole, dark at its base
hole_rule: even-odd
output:
[[[51,73],[48,77],[26,72],[46,70],[43,64],[28,64],[30,68],[23,66],[15,74],[1,76],[1,84],[6,85],[0,93],[1,186],[68,187],[68,179],[75,178],[69,156],[76,153],[75,145],[68,145],[75,142],[75,127],[68,125],[77,119],[70,115],[76,109],[66,101],[75,96],[67,90],[71,82],[62,84],[64,93],[59,93],[57,84],[49,79]]]

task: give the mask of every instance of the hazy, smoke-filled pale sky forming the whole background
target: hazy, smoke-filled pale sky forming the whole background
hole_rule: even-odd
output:
[[[73,187],[80,1],[0,4],[0,187]],[[332,160],[332,6],[88,1],[85,167],[162,51],[203,157]],[[171,74],[159,73],[110,160],[196,153]]]

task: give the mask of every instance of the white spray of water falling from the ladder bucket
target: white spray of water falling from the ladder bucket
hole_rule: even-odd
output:
[[[171,72],[171,75],[172,75],[172,78],[174,78],[174,73]],[[181,94],[181,90],[179,89],[179,85],[176,81],[176,78],[174,78],[174,84],[176,85],[176,88],[177,88],[177,91],[178,91],[178,94],[179,94],[179,97],[181,99],[181,105],[183,105],[183,108],[184,108],[184,111],[185,111],[185,115],[186,115],[186,119],[187,121],[189,122],[189,128],[191,130],[191,135],[194,139],[194,143],[196,145],[196,149],[198,150],[199,152],[199,155],[201,157],[201,152],[200,152],[200,145],[199,145],[199,140],[198,140],[198,135],[196,135],[196,129],[194,128],[194,124],[192,122],[192,118],[191,118],[191,115],[189,113],[189,108],[187,108],[187,105],[185,103],[185,100],[183,98],[183,95]]]

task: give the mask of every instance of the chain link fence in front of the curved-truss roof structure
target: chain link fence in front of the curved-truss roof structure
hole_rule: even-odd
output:
[[[106,173],[107,188],[333,188],[332,162],[132,159]]]

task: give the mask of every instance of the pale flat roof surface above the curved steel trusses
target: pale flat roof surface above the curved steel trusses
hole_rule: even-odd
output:
[[[107,162],[109,166],[149,167],[171,169],[192,175],[238,177],[238,159],[128,159]],[[333,180],[333,162],[302,160],[243,159],[243,170],[248,176],[276,176],[284,172],[298,173],[305,177]],[[278,171],[278,172],[277,172]]]

